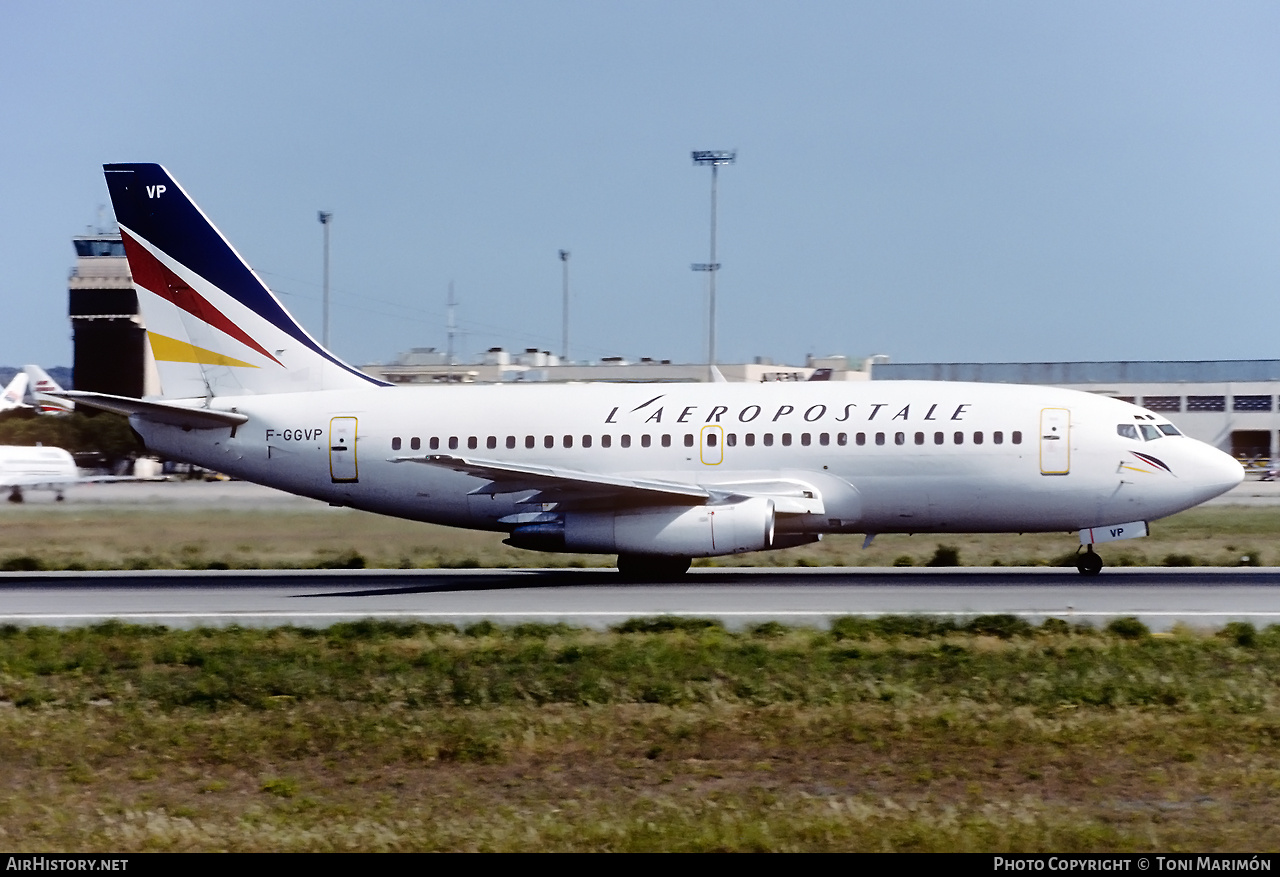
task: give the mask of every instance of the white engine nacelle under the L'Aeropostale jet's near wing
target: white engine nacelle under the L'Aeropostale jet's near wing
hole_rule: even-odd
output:
[[[716,557],[773,547],[773,501],[566,512],[563,521],[517,527],[507,543],[588,554]]]

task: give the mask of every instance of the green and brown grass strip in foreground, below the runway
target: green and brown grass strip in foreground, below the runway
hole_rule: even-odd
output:
[[[0,629],[17,850],[1242,850],[1280,627]]]

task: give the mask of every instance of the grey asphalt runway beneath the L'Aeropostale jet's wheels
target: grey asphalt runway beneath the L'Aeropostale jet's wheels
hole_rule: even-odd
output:
[[[826,627],[840,616],[1014,613],[1152,630],[1280,624],[1280,570],[692,570],[678,584],[623,584],[600,570],[326,570],[0,574],[0,624],[58,627],[110,618],[169,627],[385,618],[468,625],[564,622],[604,629],[632,617]]]

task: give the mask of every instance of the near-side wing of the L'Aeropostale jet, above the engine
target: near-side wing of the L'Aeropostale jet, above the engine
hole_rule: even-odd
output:
[[[710,490],[696,484],[603,475],[556,466],[527,466],[475,457],[453,457],[443,453],[392,457],[392,462],[425,463],[488,479],[488,484],[472,490],[474,494],[479,495],[536,490],[540,495],[530,498],[529,502],[566,502],[613,497],[637,504],[660,502],[701,506],[713,495]]]

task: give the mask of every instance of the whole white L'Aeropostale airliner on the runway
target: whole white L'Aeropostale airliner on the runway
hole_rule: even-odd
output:
[[[333,504],[616,553],[630,576],[828,533],[1053,530],[1092,575],[1094,543],[1244,475],[1158,414],[1050,387],[389,387],[317,344],[164,168],[105,170],[163,396],[63,396]]]

